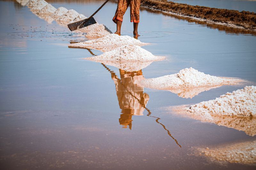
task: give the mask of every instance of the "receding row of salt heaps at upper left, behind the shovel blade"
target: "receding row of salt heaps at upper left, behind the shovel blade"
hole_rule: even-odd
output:
[[[17,2],[21,4],[23,1],[17,0]],[[25,0],[24,0],[24,3],[25,3]],[[60,7],[56,10],[56,8],[51,7],[52,5],[48,4],[44,0],[29,0],[29,1],[26,1],[26,5],[39,18],[46,20],[48,23],[52,23],[53,20],[56,20],[57,24],[59,24],[60,26],[67,27],[67,24],[69,23],[86,19],[86,17],[83,14],[79,14],[75,10],[68,11],[64,7]],[[103,24],[94,24],[94,25],[95,26],[91,27],[93,29],[78,29],[76,30],[75,33],[86,33],[85,36],[88,39],[100,38],[112,33]]]

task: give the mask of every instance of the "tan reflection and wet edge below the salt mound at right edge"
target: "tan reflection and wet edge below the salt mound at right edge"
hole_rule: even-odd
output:
[[[187,111],[187,106],[173,106],[169,109],[172,113],[189,116],[190,118],[201,122],[215,123],[219,126],[233,128],[239,131],[244,131],[247,135],[256,135],[256,117],[251,116],[227,116],[227,115],[204,115],[200,113],[193,114]],[[169,110],[167,109],[167,110]]]

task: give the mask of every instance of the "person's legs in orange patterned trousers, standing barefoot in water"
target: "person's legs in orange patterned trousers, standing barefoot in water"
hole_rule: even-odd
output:
[[[121,26],[123,16],[130,4],[131,22],[133,22],[133,35],[135,38],[140,36],[138,34],[138,25],[140,22],[140,0],[118,0],[116,14],[113,21],[116,23],[116,34],[121,35]]]

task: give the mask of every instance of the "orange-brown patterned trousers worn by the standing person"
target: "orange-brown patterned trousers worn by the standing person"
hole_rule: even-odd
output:
[[[118,0],[116,14],[113,21],[123,21],[123,16],[130,5],[131,22],[140,22],[140,0]]]

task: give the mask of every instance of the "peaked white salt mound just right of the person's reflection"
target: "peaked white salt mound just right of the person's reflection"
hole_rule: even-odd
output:
[[[190,67],[180,70],[179,73],[158,78],[144,79],[141,85],[148,88],[168,90],[172,88],[212,87],[218,85],[234,84],[242,80],[232,78],[220,78],[204,74]]]

